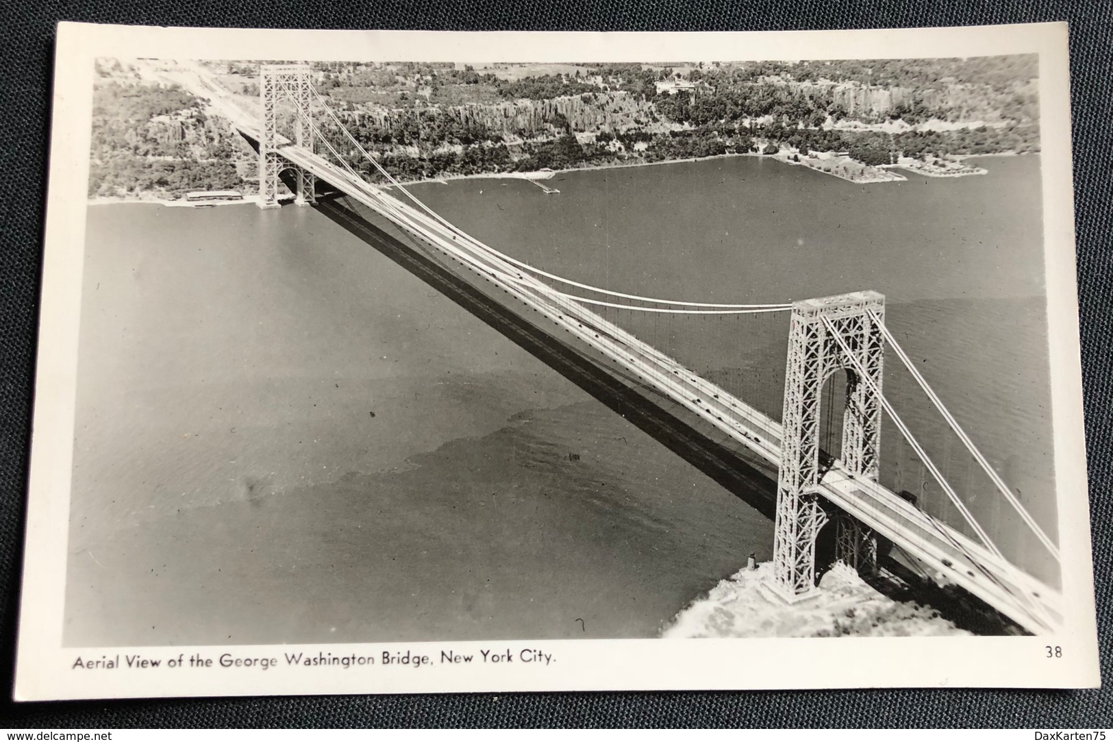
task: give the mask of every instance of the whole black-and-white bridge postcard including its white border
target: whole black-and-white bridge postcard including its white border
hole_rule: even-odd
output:
[[[605,640],[680,676],[1023,646],[1096,683],[1053,28],[757,59],[144,31],[58,91],[29,694],[575,690],[545,677],[599,687]]]

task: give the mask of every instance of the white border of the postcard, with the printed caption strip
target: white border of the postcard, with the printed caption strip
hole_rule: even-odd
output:
[[[1077,333],[1067,35],[1064,23],[878,31],[715,33],[434,32],[173,29],[61,23],[19,628],[18,700],[545,690],[861,686],[1085,687],[1100,682]],[[292,50],[297,50],[292,55]],[[590,640],[306,646],[63,648],[62,603],[85,251],[92,60],[191,59],[646,61],[1040,55],[1052,419],[1066,623],[1040,637]],[[1063,657],[1047,658],[1046,646]],[[436,662],[442,651],[509,650],[516,661]],[[426,654],[430,666],[197,668],[218,661]],[[549,664],[521,662],[540,651]],[[72,670],[78,656],[142,655],[158,668]],[[181,655],[185,666],[165,663]]]

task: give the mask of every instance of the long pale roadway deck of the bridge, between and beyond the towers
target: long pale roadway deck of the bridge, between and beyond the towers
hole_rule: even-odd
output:
[[[242,133],[258,139],[254,117],[225,99],[216,84],[207,81],[201,72],[193,70],[176,78],[198,94],[213,97]],[[718,437],[743,447],[772,467],[779,466],[781,427],[777,421],[582,305],[554,295],[546,284],[511,263],[472,248],[451,227],[319,155],[295,146],[286,146],[279,154],[382,215],[459,271],[467,271],[473,280],[481,277],[493,284],[504,294],[504,301],[539,313],[541,321],[552,323],[550,333],[556,341],[587,345],[629,383],[667,397]],[[834,463],[815,491],[899,546],[936,582],[962,586],[1033,633],[1045,633],[1060,623],[1056,590],[885,487],[855,479],[841,462]]]

